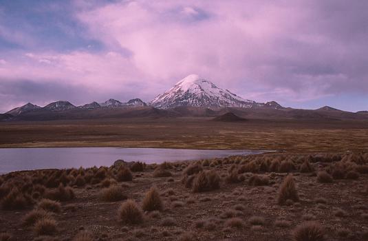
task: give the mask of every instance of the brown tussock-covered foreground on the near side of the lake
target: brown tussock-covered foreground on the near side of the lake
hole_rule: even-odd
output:
[[[0,240],[368,240],[368,153],[0,177]]]

